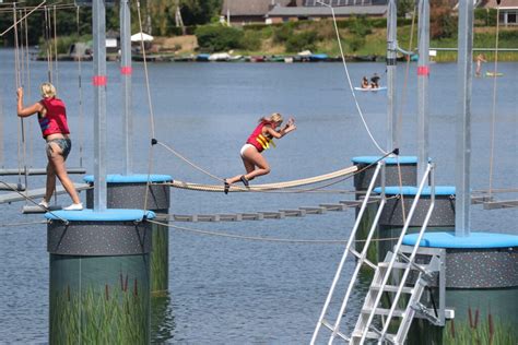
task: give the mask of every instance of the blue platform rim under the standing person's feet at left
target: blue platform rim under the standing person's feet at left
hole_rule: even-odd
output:
[[[106,211],[52,211],[47,212],[45,217],[52,221],[71,221],[71,222],[140,222],[144,218],[153,219],[156,215],[153,211],[143,210],[122,210],[108,209]]]

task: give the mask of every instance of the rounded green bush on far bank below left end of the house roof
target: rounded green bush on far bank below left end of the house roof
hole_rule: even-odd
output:
[[[204,25],[196,29],[198,45],[205,51],[240,48],[243,36],[243,31],[221,25]]]

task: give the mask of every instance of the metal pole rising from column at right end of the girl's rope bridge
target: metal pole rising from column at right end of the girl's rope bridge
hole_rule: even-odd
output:
[[[387,151],[399,147],[399,128],[396,116],[396,52],[398,48],[398,8],[396,0],[390,0],[387,21]]]

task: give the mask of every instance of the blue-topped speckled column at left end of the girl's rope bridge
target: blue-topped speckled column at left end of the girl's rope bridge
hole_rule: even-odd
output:
[[[93,185],[93,176],[85,182]],[[150,185],[170,182],[169,175],[108,175],[107,206],[110,209],[151,210],[160,216],[169,213],[169,186]],[[148,192],[146,192],[148,191]],[[148,200],[145,200],[148,198]],[[86,206],[93,207],[93,189],[86,191]],[[167,226],[153,224],[153,245],[151,252],[151,293],[166,294],[169,282],[169,231]]]

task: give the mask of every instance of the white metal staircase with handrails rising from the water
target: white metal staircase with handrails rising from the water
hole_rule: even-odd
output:
[[[365,212],[366,205],[369,202],[372,190],[374,189],[377,176],[384,163],[378,163],[373,175],[372,181],[365,194],[364,202],[356,217],[355,225],[351,231],[344,253],[334,275],[331,288],[328,293],[322,312],[315,328],[310,344],[316,344],[319,338],[320,331],[328,329],[330,331],[328,344],[332,344],[338,337],[349,344],[364,344],[367,340],[377,342],[378,344],[403,344],[408,331],[414,317],[426,318],[434,324],[444,324],[444,300],[439,312],[437,308],[429,310],[428,307],[421,304],[421,299],[425,288],[431,282],[436,281],[435,272],[443,272],[439,257],[434,251],[425,253],[427,257],[424,263],[416,263],[416,258],[423,259],[423,252],[419,251],[419,243],[426,230],[428,221],[435,205],[435,181],[433,176],[433,166],[428,164],[426,171],[420,182],[420,187],[412,202],[408,217],[404,222],[403,229],[397,245],[393,247],[393,253],[389,252],[385,261],[377,265],[366,259],[366,253],[373,236],[377,229],[379,216],[386,204],[385,193],[381,193],[381,200],[377,210],[376,216],[372,224],[369,234],[365,240],[362,252],[353,249],[353,242],[356,230]],[[415,212],[417,202],[421,198],[422,191],[427,185],[428,179],[432,181],[431,204],[421,226],[417,240],[414,246],[402,246],[403,237],[407,235],[408,228],[411,224],[413,214]],[[345,296],[342,299],[340,310],[333,322],[328,321],[329,307],[331,305],[334,292],[341,279],[342,272],[348,254],[352,253],[356,257],[356,265],[350,277],[349,286]],[[357,317],[356,325],[352,332],[342,331],[341,323],[345,313],[351,313],[346,309],[348,301],[357,283],[358,273],[363,265],[375,269],[373,282],[367,290],[360,316]],[[444,274],[443,274],[444,276]],[[444,284],[443,284],[444,286]],[[385,297],[384,297],[385,296]],[[401,298],[404,296],[403,298]],[[433,296],[432,296],[433,297]],[[444,298],[443,298],[444,299]],[[323,326],[323,328],[322,328]],[[396,332],[395,332],[396,331]],[[392,332],[392,333],[389,333]]]

